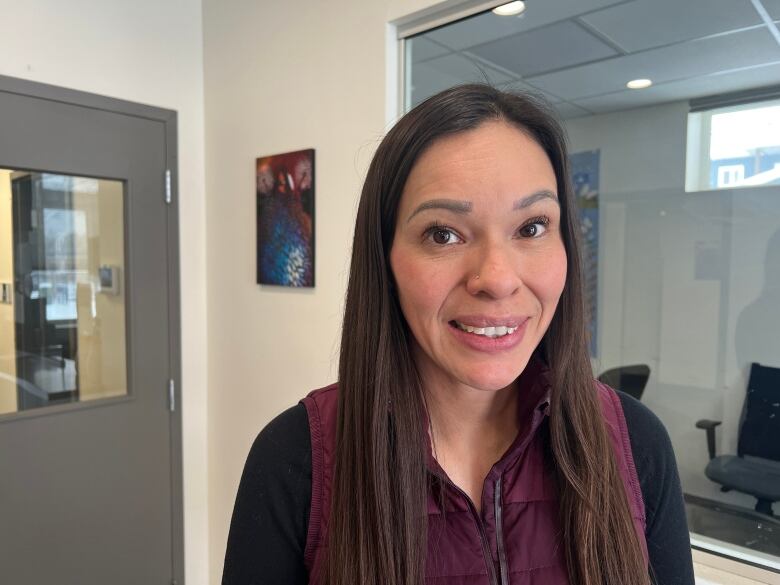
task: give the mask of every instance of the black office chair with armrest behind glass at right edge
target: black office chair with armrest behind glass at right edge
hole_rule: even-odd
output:
[[[715,455],[715,427],[719,420],[700,420],[707,431],[710,462],[705,475],[722,487],[756,498],[756,512],[772,516],[780,501],[780,368],[751,364],[736,455]],[[774,462],[773,462],[774,461]]]

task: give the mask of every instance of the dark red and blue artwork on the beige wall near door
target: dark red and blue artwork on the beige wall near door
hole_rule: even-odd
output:
[[[314,286],[314,149],[258,158],[257,283]]]

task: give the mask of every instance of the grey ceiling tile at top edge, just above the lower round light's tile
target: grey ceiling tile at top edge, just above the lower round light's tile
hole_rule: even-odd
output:
[[[750,0],[635,0],[582,20],[629,53],[762,24]]]

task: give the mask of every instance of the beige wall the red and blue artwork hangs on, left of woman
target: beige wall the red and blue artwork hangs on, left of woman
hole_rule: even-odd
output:
[[[204,1],[211,583],[252,440],[335,379],[356,201],[393,95],[387,24],[434,4]],[[317,286],[260,287],[254,160],[302,148],[317,151]]]

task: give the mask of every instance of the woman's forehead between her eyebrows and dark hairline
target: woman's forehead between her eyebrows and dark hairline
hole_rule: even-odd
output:
[[[555,172],[545,151],[531,136],[503,121],[441,138],[412,167],[401,207],[434,196],[523,196],[556,191]]]

